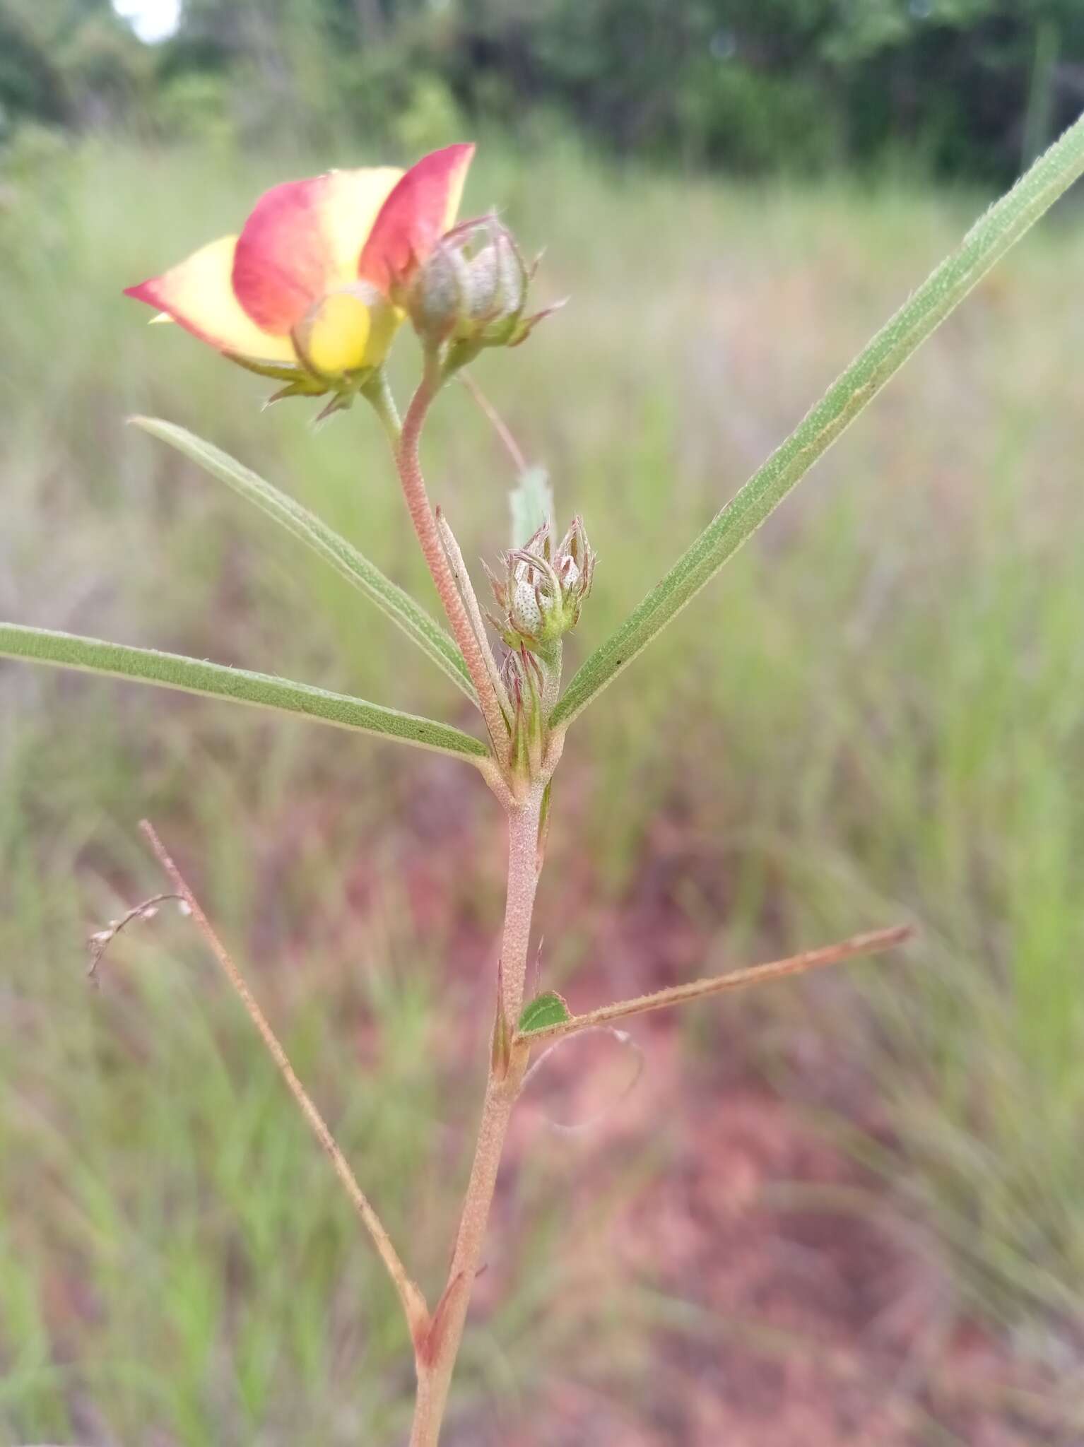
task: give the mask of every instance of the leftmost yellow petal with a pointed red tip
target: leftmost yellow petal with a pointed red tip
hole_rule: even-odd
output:
[[[220,352],[236,352],[253,362],[297,363],[289,336],[258,327],[233,295],[236,245],[236,236],[221,236],[161,276],[129,287],[124,294],[156,307]]]

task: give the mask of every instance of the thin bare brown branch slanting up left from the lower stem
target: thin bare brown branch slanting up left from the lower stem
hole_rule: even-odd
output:
[[[381,1257],[381,1260],[384,1262],[384,1266],[385,1266],[388,1275],[392,1279],[395,1291],[399,1295],[399,1301],[402,1302],[402,1311],[404,1311],[404,1314],[407,1317],[407,1324],[408,1324],[408,1327],[411,1330],[411,1336],[417,1337],[420,1333],[425,1331],[425,1328],[428,1325],[428,1320],[430,1320],[428,1318],[428,1308],[425,1305],[425,1298],[423,1297],[423,1294],[418,1289],[418,1286],[407,1275],[407,1269],[404,1268],[402,1262],[399,1260],[398,1252],[392,1246],[392,1242],[391,1242],[391,1237],[388,1236],[388,1231],[384,1229],[384,1223],[381,1221],[379,1215],[376,1214],[376,1211],[369,1204],[369,1200],[365,1195],[365,1192],[362,1191],[362,1188],[357,1185],[357,1179],[355,1178],[355,1174],[350,1169],[349,1162],[346,1160],[346,1156],[339,1149],[339,1145],[336,1143],[334,1136],[329,1130],[329,1127],[327,1127],[327,1124],[324,1121],[324,1117],[316,1108],[316,1106],[313,1104],[311,1097],[308,1095],[308,1091],[305,1090],[305,1087],[301,1084],[301,1081],[294,1074],[294,1066],[289,1064],[289,1059],[287,1058],[287,1052],[279,1045],[278,1036],[271,1029],[271,1024],[268,1023],[266,1016],[261,1010],[259,1004],[256,1003],[255,996],[252,994],[252,991],[249,990],[247,984],[245,983],[245,977],[242,975],[242,972],[234,965],[234,962],[233,962],[229,951],[226,949],[226,946],[221,943],[221,941],[219,939],[219,936],[214,933],[214,929],[213,929],[210,920],[207,919],[207,916],[204,915],[204,912],[203,912],[203,909],[200,906],[200,901],[192,894],[191,888],[188,887],[188,883],[184,878],[184,875],[181,874],[181,871],[177,868],[177,865],[174,864],[172,858],[166,852],[166,848],[162,844],[162,841],[158,838],[158,833],[155,832],[153,825],[151,825],[149,820],[143,819],[143,820],[140,820],[139,828],[146,835],[146,838],[148,838],[148,841],[151,844],[151,848],[155,851],[155,857],[158,858],[158,862],[162,865],[162,868],[166,873],[166,875],[168,875],[169,881],[172,883],[174,888],[177,890],[177,893],[181,896],[181,899],[185,901],[185,904],[191,910],[192,923],[195,925],[195,928],[203,935],[204,942],[207,943],[208,949],[211,951],[211,954],[214,955],[214,958],[219,961],[223,974],[226,975],[226,978],[229,980],[229,983],[233,985],[234,991],[240,997],[240,1001],[245,1006],[245,1010],[247,1011],[249,1019],[256,1026],[256,1030],[259,1032],[261,1039],[263,1040],[263,1043],[268,1048],[268,1053],[274,1059],[275,1065],[279,1068],[279,1071],[282,1074],[282,1078],[285,1079],[287,1087],[289,1088],[289,1094],[297,1101],[297,1104],[298,1104],[298,1107],[301,1110],[301,1114],[308,1121],[308,1126],[310,1126],[313,1134],[316,1136],[316,1139],[320,1142],[320,1145],[323,1146],[324,1152],[327,1153],[327,1156],[329,1156],[329,1159],[330,1159],[330,1162],[331,1162],[331,1165],[334,1168],[336,1175],[339,1176],[340,1182],[343,1184],[343,1188],[346,1189],[346,1194],[350,1197],[350,1202],[353,1204],[355,1211],[362,1218],[362,1223],[363,1223],[365,1229],[368,1230],[369,1236],[372,1237],[373,1246],[376,1247],[376,1253]]]

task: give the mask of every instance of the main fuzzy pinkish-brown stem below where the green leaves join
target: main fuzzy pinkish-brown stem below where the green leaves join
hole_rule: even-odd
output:
[[[527,980],[531,915],[541,868],[538,825],[543,793],[544,789],[540,783],[533,784],[528,796],[508,815],[508,896],[501,938],[501,991],[498,1000],[498,1011],[501,1013],[498,1030],[502,1029],[501,1022],[504,1022],[508,1035],[520,1019]],[[440,1438],[452,1373],[482,1260],[489,1208],[494,1201],[508,1121],[520,1097],[527,1055],[525,1049],[512,1051],[511,1056],[502,1059],[501,1052],[495,1051],[491,1059],[475,1160],[470,1168],[470,1181],[463,1201],[447,1285],[433,1312],[428,1331],[421,1338],[415,1338],[418,1395],[410,1447],[437,1447]]]

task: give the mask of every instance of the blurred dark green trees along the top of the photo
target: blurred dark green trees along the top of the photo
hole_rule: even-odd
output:
[[[554,126],[741,172],[892,159],[1004,182],[1081,107],[1077,0],[188,0],[139,45],[106,0],[7,0],[0,117],[161,135]]]

